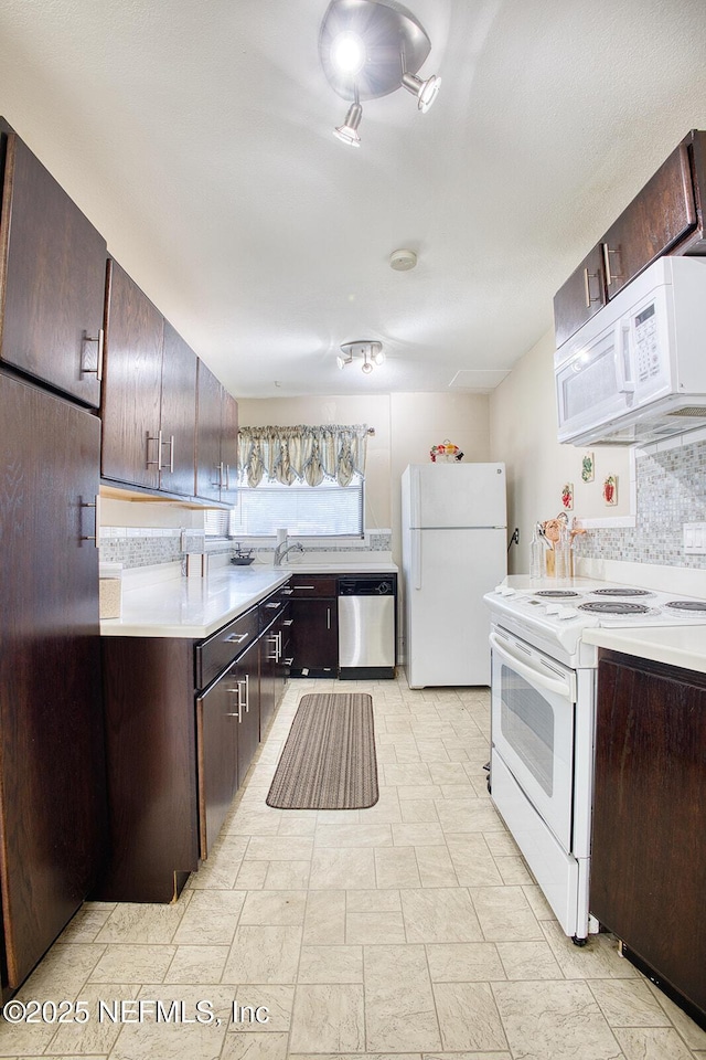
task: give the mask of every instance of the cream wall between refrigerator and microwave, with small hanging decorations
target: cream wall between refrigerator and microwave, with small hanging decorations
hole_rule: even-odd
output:
[[[554,396],[554,332],[547,331],[490,398],[490,452],[507,465],[507,523],[520,528],[520,547],[509,555],[511,573],[530,568],[530,541],[536,522],[563,510],[561,488],[574,484],[569,518],[612,518],[630,513],[630,456],[622,446],[596,446],[595,479],[581,480],[585,448],[559,445]],[[618,477],[617,506],[608,507],[602,484]]]

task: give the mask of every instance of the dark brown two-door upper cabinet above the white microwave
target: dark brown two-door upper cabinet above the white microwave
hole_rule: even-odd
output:
[[[689,132],[559,288],[557,346],[661,255],[706,254],[705,150],[706,132]]]

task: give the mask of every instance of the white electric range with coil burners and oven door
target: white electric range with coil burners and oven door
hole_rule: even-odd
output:
[[[598,649],[582,634],[704,624],[706,601],[587,579],[520,580],[483,598],[491,612],[491,795],[561,928],[580,945],[598,930],[589,916]]]

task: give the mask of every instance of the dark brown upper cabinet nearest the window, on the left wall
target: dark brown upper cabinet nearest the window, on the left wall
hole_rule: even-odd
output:
[[[196,496],[235,504],[238,463],[235,398],[199,361],[196,380]]]

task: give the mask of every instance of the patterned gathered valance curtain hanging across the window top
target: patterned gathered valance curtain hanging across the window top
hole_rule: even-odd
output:
[[[263,478],[285,486],[327,479],[347,486],[355,473],[365,474],[367,434],[365,424],[240,427],[238,465],[248,486]]]

